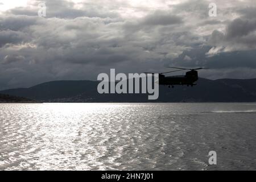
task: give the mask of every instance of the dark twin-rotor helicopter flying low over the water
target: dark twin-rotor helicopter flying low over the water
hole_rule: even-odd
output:
[[[167,67],[167,68],[174,68],[178,69],[175,71],[170,72],[163,72],[158,73],[159,74],[159,85],[168,85],[169,88],[174,88],[174,85],[187,85],[187,86],[194,86],[196,85],[194,82],[198,80],[198,73],[197,70],[200,69],[209,69],[209,68],[177,68],[177,67]],[[189,70],[185,73],[185,75],[181,76],[165,76],[166,73],[172,73],[172,72],[179,72]],[[156,74],[156,73],[151,73]]]

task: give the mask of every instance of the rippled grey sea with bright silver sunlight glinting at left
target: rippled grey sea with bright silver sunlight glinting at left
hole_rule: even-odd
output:
[[[256,103],[0,104],[0,170],[255,169]]]

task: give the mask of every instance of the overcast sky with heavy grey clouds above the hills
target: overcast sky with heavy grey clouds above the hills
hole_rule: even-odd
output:
[[[166,66],[256,78],[255,0],[0,0],[0,90]]]

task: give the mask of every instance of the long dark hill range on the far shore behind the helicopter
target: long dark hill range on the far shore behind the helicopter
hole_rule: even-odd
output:
[[[147,94],[98,94],[97,81],[51,81],[0,91],[42,102],[256,102],[256,79],[208,80],[200,78],[196,86],[159,86],[158,100]]]

